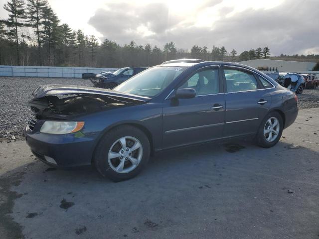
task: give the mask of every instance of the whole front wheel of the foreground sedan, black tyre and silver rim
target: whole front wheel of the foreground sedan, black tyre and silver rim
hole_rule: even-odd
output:
[[[114,182],[137,176],[150,158],[150,141],[131,125],[111,129],[101,138],[94,153],[99,173]]]

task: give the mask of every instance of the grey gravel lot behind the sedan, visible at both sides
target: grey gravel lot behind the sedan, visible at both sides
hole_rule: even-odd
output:
[[[32,91],[43,84],[92,86],[89,80],[63,78],[0,77],[0,142],[11,135],[23,139],[23,128],[31,117],[27,102]],[[299,98],[299,108],[319,107],[319,88],[306,89]]]

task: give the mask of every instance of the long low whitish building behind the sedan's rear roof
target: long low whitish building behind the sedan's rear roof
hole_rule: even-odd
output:
[[[243,65],[247,65],[256,68],[260,71],[279,71],[279,72],[299,72],[306,73],[312,71],[315,62],[305,62],[305,61],[281,61],[281,60],[268,60],[268,59],[256,59],[250,61],[240,61],[237,62]]]

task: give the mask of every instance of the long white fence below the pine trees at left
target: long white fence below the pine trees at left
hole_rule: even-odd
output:
[[[114,72],[117,68],[54,67],[54,66],[0,66],[0,76],[82,78],[83,73]]]

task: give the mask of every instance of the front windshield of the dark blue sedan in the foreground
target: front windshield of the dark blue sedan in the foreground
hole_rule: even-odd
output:
[[[160,94],[186,67],[158,66],[147,69],[113,90],[154,97]]]

